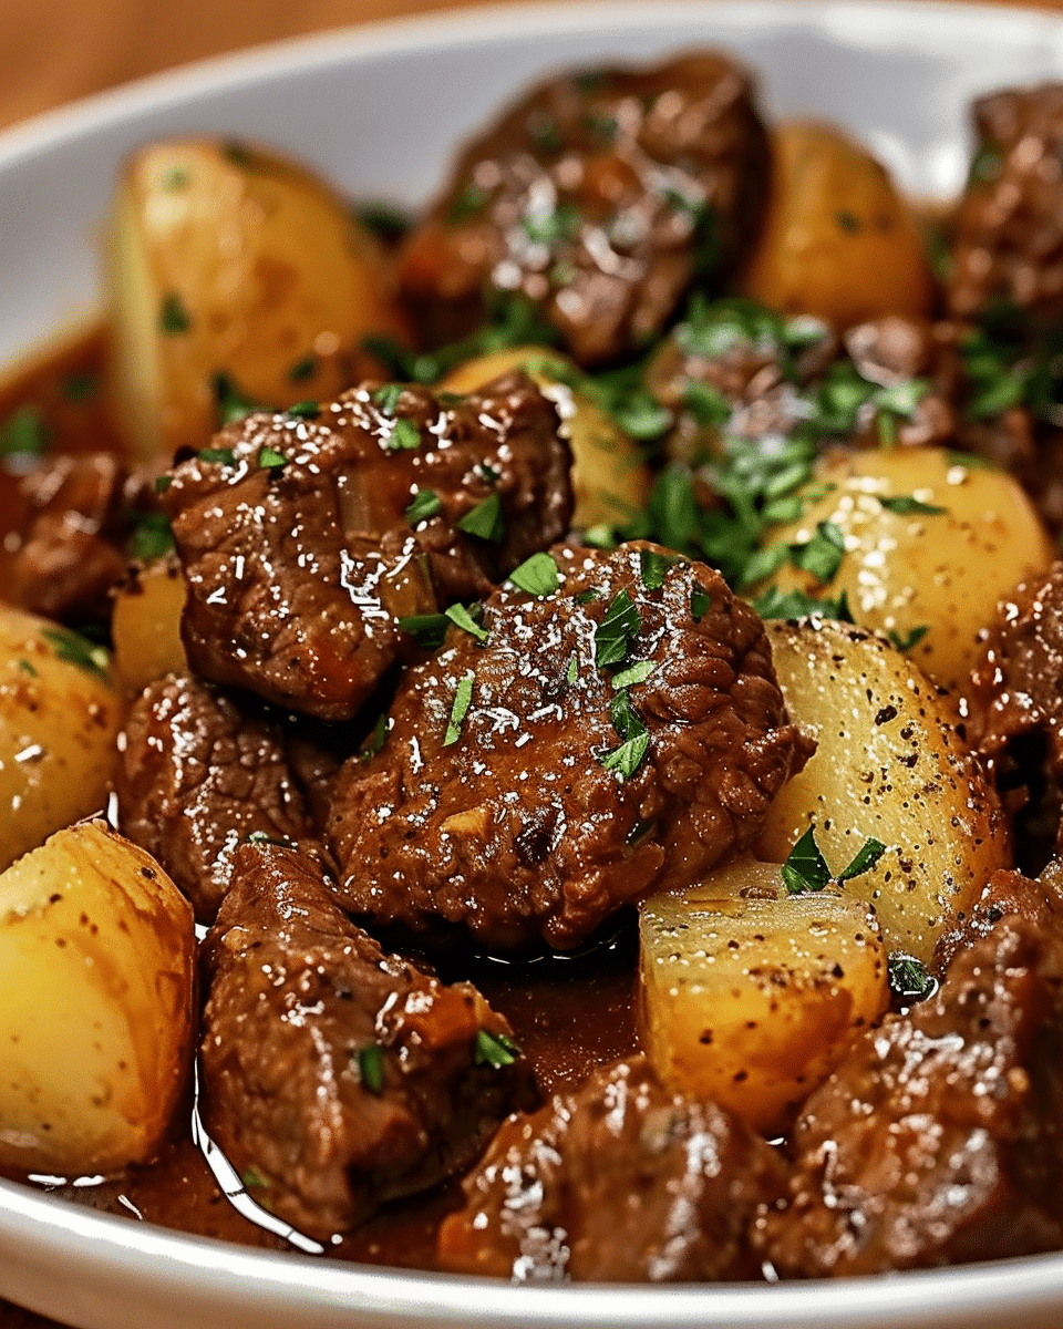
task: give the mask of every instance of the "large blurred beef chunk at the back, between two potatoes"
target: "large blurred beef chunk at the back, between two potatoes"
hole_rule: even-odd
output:
[[[551,80],[464,150],[400,286],[437,342],[518,292],[581,364],[613,360],[664,327],[695,275],[733,272],[768,162],[749,78],[714,52]]]

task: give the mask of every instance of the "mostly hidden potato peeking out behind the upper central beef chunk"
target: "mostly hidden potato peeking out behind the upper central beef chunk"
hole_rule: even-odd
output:
[[[615,526],[640,512],[650,493],[650,473],[639,449],[601,407],[569,385],[578,380],[579,369],[567,356],[538,346],[494,351],[460,364],[440,387],[473,392],[510,369],[525,369],[561,416],[561,432],[573,449],[573,526]]]

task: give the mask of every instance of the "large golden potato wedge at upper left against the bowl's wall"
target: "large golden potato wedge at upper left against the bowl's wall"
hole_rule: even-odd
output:
[[[145,460],[202,448],[218,376],[271,407],[336,396],[405,339],[383,250],[326,185],[222,142],[155,144],[126,166],[110,226],[114,395]]]

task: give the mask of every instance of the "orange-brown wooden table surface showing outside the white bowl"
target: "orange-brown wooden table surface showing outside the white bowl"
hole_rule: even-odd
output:
[[[506,0],[0,0],[0,128],[191,60],[470,3]],[[0,1329],[56,1326],[0,1301]]]

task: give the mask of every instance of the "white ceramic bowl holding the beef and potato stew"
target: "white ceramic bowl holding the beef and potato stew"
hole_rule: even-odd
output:
[[[699,43],[756,66],[769,113],[848,125],[922,195],[961,183],[975,93],[1063,77],[1063,17],[796,0],[470,11],[213,61],[0,134],[0,364],[96,304],[96,235],[137,144],[244,137],[415,202],[530,76]],[[0,1183],[0,1296],[80,1329],[1059,1329],[1063,1255],[834,1284],[513,1288],[262,1253]]]

